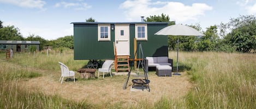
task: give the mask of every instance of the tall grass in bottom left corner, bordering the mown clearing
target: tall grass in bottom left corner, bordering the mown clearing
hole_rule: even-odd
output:
[[[0,108],[93,108],[85,101],[75,102],[58,95],[29,92],[18,86],[19,80],[1,82]]]

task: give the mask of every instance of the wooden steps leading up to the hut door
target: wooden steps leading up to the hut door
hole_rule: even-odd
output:
[[[127,70],[129,72],[130,66],[129,66],[129,55],[117,55],[116,56],[116,72],[120,70]]]

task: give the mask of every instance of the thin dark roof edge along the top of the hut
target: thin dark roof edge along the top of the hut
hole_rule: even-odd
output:
[[[72,23],[73,24],[168,24],[167,22],[72,22]]]

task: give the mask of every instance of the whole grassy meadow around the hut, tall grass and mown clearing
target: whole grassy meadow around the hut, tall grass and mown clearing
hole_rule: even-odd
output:
[[[255,108],[255,54],[180,52],[182,75],[149,72],[150,92],[131,92],[133,75],[125,90],[127,75],[85,80],[76,72],[78,81],[61,84],[58,61],[75,71],[87,63],[74,60],[72,51],[0,56],[0,108]],[[176,56],[169,52],[174,72]]]

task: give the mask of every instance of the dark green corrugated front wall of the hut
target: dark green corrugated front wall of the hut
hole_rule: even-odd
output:
[[[113,25],[113,24],[111,24]],[[142,44],[144,56],[168,56],[168,37],[154,35],[166,24],[148,24],[148,40],[137,41]],[[135,24],[130,24],[130,58],[133,58],[133,39],[135,37]],[[104,60],[114,59],[113,42],[115,30],[111,30],[111,41],[98,41],[98,24],[74,24],[74,59],[75,60]]]

